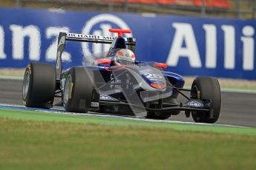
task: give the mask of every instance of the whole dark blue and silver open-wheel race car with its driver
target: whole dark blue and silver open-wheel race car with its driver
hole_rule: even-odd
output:
[[[50,109],[54,98],[61,98],[57,104],[68,112],[167,119],[184,111],[195,122],[218,120],[221,100],[217,78],[197,77],[191,89],[184,89],[184,78],[165,72],[166,64],[136,60],[136,39],[122,36],[131,30],[109,31],[117,36],[59,33],[56,67],[35,62],[25,69],[24,106]],[[111,47],[102,55],[85,56],[82,66],[62,69],[66,41],[111,44]],[[179,95],[186,102],[179,101]]]

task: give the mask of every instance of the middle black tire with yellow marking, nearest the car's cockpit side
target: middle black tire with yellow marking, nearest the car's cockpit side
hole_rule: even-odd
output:
[[[93,72],[85,67],[68,71],[63,92],[63,105],[68,112],[88,112],[93,95]]]

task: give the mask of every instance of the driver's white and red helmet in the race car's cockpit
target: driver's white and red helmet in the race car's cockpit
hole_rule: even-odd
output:
[[[122,49],[116,51],[116,55],[114,55],[114,64],[116,66],[122,65],[131,65],[135,63],[135,55],[134,52],[128,49]]]

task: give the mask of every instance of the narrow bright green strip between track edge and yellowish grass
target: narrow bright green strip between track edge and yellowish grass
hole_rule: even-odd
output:
[[[104,126],[135,126],[138,128],[164,128],[189,132],[214,132],[221,134],[251,135],[256,136],[255,128],[241,128],[230,126],[208,126],[191,125],[170,122],[148,122],[141,120],[129,120],[122,118],[102,118],[84,115],[65,115],[53,112],[37,112],[28,110],[0,109],[0,118],[12,118],[17,120],[38,120],[38,121],[56,121],[68,123],[92,123]]]

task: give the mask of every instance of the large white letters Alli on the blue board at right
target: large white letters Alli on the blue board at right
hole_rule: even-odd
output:
[[[223,58],[224,69],[235,69],[235,62],[237,57],[241,57],[243,64],[243,70],[254,70],[255,68],[255,28],[249,25],[243,26],[241,29],[241,36],[237,38],[236,31],[233,25],[221,25],[217,33],[217,27],[214,24],[203,24],[203,31],[205,37],[202,35],[194,35],[194,29],[191,24],[174,22],[172,24],[175,33],[171,43],[171,49],[168,53],[167,64],[171,67],[176,67],[180,58],[187,58],[192,68],[201,68],[201,58],[205,57],[204,67],[207,69],[217,68],[217,60]],[[236,30],[237,29],[237,30]],[[223,37],[217,37],[222,35]],[[198,38],[205,38],[205,44],[203,47],[197,47]],[[219,38],[219,40],[218,40]],[[220,40],[223,39],[223,43]],[[222,41],[222,40],[221,40]],[[183,47],[183,42],[186,47]],[[223,44],[223,47],[220,45]],[[242,44],[238,46],[237,44]],[[240,47],[240,51],[236,54],[236,48]],[[201,54],[199,50],[205,48],[206,53]],[[223,49],[223,56],[217,56],[218,48]],[[239,56],[240,55],[240,56]],[[242,56],[241,56],[242,55]]]

